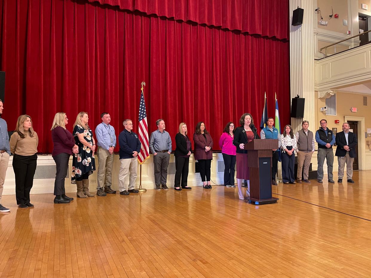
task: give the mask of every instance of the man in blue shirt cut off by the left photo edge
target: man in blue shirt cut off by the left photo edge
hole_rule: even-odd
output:
[[[3,114],[3,101],[0,99],[0,117]],[[0,118],[0,212],[8,212],[10,209],[1,205],[1,196],[3,195],[4,181],[8,162],[10,157],[8,126],[6,121]]]

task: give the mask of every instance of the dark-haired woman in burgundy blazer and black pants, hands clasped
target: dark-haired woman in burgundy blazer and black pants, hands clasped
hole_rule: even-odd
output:
[[[205,189],[211,189],[210,168],[211,159],[213,159],[213,138],[207,132],[204,122],[198,122],[196,131],[193,134],[194,141],[194,159],[198,161],[200,167],[201,180]]]

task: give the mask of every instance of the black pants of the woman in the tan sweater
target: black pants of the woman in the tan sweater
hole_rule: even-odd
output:
[[[33,185],[33,176],[36,171],[37,155],[13,156],[13,171],[16,176],[17,205],[30,202],[30,191]]]

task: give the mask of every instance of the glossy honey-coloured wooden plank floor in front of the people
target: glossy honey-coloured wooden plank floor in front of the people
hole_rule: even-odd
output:
[[[30,209],[3,196],[0,276],[371,277],[370,175],[280,183],[278,203],[260,206],[224,186],[67,205],[39,194]]]

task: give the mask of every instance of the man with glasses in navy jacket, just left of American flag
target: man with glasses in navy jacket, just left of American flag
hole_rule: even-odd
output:
[[[118,175],[118,187],[121,195],[129,195],[129,193],[138,193],[135,189],[135,180],[137,179],[138,169],[138,152],[141,149],[141,143],[138,135],[131,130],[133,122],[130,119],[124,120],[122,123],[124,130],[118,136],[120,145],[120,172]],[[125,178],[130,172],[129,186],[125,187]]]

